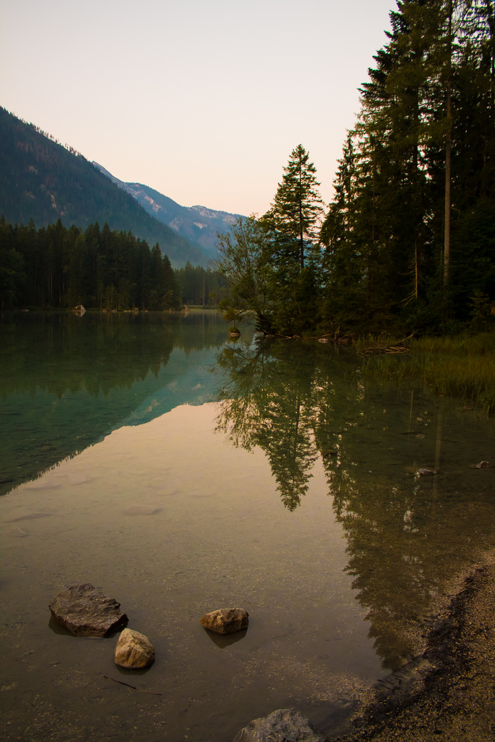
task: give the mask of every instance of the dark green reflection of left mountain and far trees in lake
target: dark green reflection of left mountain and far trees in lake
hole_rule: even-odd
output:
[[[177,378],[191,375],[194,364],[213,363],[226,324],[214,312],[82,317],[6,312],[0,332],[4,494],[122,424],[146,422],[184,401],[202,401],[191,387],[181,393]],[[173,363],[174,349],[180,355]],[[134,419],[149,398],[153,404]]]

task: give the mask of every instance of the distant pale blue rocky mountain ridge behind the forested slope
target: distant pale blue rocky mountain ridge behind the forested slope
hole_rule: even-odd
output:
[[[178,234],[199,245],[208,255],[217,254],[217,233],[229,232],[232,224],[240,214],[229,214],[228,211],[214,211],[206,206],[180,206],[179,203],[164,196],[154,188],[142,183],[124,183],[105,170],[98,162],[93,165],[114,181],[120,188],[131,194],[148,211],[163,224],[175,229]]]

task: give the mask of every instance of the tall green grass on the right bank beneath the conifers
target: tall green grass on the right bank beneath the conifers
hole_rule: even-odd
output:
[[[373,344],[378,344],[376,338]],[[409,353],[367,358],[364,377],[388,378],[398,385],[419,382],[436,394],[472,401],[487,413],[495,411],[495,333],[420,338],[407,346]]]

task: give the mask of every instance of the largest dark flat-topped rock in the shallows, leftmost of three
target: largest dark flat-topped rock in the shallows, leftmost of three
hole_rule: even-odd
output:
[[[72,585],[56,595],[48,608],[58,623],[75,637],[108,637],[128,621],[120,603],[108,598],[87,582]]]

